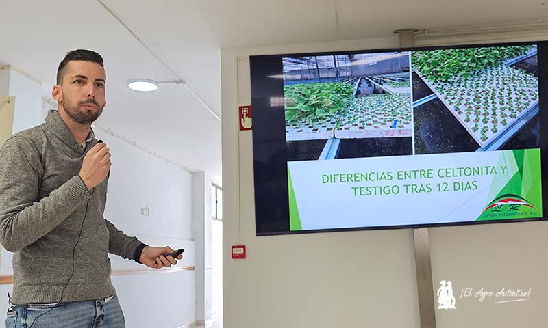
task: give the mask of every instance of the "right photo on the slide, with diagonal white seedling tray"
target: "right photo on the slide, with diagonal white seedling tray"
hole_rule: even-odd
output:
[[[415,154],[537,148],[534,45],[412,53]]]

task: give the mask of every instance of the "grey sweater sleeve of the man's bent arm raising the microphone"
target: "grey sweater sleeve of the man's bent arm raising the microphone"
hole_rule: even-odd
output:
[[[0,243],[8,251],[31,245],[69,217],[91,194],[73,176],[38,201],[40,154],[24,137],[12,137],[0,150]]]

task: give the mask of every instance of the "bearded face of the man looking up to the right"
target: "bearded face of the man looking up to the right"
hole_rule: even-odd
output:
[[[89,125],[103,113],[105,70],[91,61],[69,61],[60,91],[62,108],[73,120]]]

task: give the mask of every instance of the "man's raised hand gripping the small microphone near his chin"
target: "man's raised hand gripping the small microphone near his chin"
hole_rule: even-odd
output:
[[[79,176],[88,187],[88,190],[95,188],[99,183],[105,180],[108,170],[110,169],[110,149],[105,143],[97,143],[91,148],[86,156],[84,163],[80,169]]]

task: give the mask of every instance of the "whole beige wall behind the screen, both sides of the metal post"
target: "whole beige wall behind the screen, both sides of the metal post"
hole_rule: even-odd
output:
[[[548,31],[521,31],[416,44],[547,39]],[[255,236],[251,132],[238,132],[238,105],[251,105],[249,55],[397,45],[377,38],[223,51],[223,327],[420,327],[412,230]],[[456,310],[436,310],[437,327],[544,327],[547,232],[546,222],[430,229],[434,293],[451,280],[457,298]],[[232,260],[230,245],[240,240],[247,259]],[[467,287],[532,292],[528,301],[495,304],[459,299]]]

